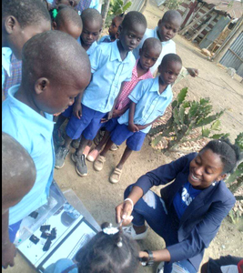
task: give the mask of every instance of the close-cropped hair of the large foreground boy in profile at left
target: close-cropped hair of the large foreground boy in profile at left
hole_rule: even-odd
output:
[[[25,43],[22,56],[24,86],[43,76],[60,80],[66,76],[79,75],[76,71],[80,75],[88,75],[86,73],[91,69],[85,49],[75,38],[59,30],[32,37]]]

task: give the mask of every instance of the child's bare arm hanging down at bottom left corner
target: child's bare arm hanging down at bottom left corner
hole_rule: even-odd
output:
[[[2,267],[7,268],[8,266],[14,267],[14,258],[16,255],[16,248],[13,243],[9,240],[8,235],[8,217],[9,210],[7,209],[2,214]]]

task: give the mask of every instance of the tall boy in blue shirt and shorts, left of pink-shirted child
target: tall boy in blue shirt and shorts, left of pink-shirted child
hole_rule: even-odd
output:
[[[56,168],[65,164],[73,139],[80,136],[81,142],[72,155],[76,163],[76,172],[80,176],[87,175],[84,149],[89,140],[93,140],[101,126],[101,119],[114,106],[122,82],[131,79],[132,68],[136,60],[131,51],[141,41],[147,27],[144,15],[139,12],[129,12],[120,25],[119,40],[114,43],[103,43],[96,47],[90,56],[92,80],[86,88],[84,97],[76,99],[78,116],[71,116],[66,126],[66,143],[56,152]]]

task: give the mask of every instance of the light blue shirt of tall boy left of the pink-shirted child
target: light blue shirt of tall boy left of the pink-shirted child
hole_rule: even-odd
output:
[[[135,57],[128,52],[122,61],[115,41],[98,45],[89,60],[93,76],[85,90],[82,104],[95,111],[107,113],[114,105],[122,82],[131,80],[136,64]]]

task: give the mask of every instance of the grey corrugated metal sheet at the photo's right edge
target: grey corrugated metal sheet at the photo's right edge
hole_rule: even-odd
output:
[[[236,41],[230,46],[219,63],[223,66],[235,68],[237,74],[243,77],[243,32],[238,35]]]

